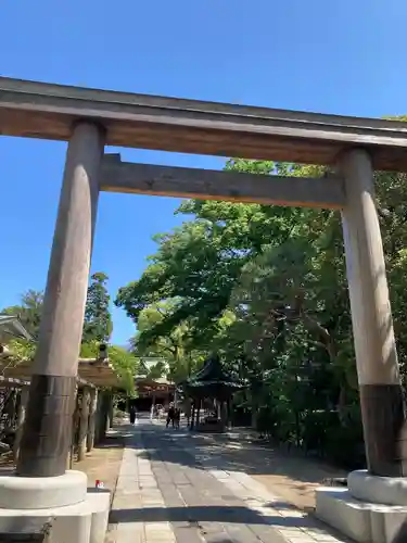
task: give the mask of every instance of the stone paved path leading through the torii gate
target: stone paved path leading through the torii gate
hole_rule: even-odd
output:
[[[109,543],[340,543],[188,431],[129,427]],[[215,454],[214,454],[215,453]]]

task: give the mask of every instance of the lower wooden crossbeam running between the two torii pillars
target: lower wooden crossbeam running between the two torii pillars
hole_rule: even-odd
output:
[[[341,209],[340,178],[279,177],[237,172],[155,166],[105,155],[101,189],[107,192],[227,200],[272,205]]]

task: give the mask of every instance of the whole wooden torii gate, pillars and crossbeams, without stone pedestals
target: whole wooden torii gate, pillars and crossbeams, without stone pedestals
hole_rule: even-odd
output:
[[[101,190],[341,210],[368,467],[400,476],[404,403],[373,168],[407,172],[407,125],[0,78],[0,132],[68,141],[17,475],[65,472]],[[104,146],[331,165],[322,179],[103,159]]]

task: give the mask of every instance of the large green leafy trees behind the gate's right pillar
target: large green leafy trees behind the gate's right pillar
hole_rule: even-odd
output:
[[[226,168],[327,174],[246,160],[229,161]],[[404,379],[406,181],[405,174],[376,174]],[[239,416],[280,441],[364,462],[340,214],[196,200],[183,202],[178,213],[193,219],[155,236],[149,266],[115,301],[138,326],[135,348],[166,353],[181,368],[217,351],[247,383],[236,397]]]

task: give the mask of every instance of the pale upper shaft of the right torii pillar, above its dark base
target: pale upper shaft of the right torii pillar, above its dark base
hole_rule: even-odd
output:
[[[382,237],[369,155],[352,151],[339,165],[346,275],[359,384],[399,384]]]

